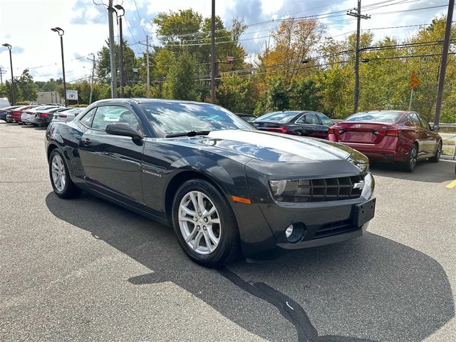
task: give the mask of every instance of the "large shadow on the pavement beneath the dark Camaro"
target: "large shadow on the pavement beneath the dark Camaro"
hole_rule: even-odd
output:
[[[442,266],[376,234],[217,271],[190,261],[169,227],[117,205],[53,192],[46,204],[151,270],[125,281],[170,281],[270,341],[422,341],[455,316]]]

